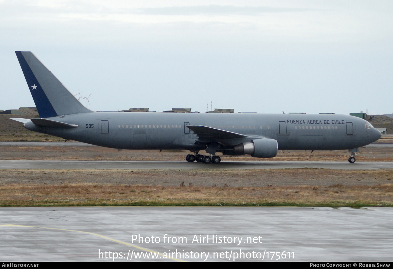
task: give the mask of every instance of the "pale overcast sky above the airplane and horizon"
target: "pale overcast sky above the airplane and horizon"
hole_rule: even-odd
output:
[[[35,106],[15,50],[92,110],[393,112],[390,0],[0,0],[4,110]]]

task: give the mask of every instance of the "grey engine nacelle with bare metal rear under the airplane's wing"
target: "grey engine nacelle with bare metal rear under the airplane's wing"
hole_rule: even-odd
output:
[[[257,158],[272,158],[277,156],[277,149],[277,140],[259,138],[233,146],[233,155],[250,154]]]

